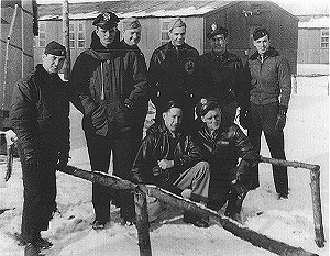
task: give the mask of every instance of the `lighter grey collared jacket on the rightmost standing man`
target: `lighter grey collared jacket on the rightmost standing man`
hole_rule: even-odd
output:
[[[292,93],[292,73],[287,59],[271,47],[262,62],[255,52],[246,63],[250,101],[267,104],[279,101],[288,107]],[[280,98],[280,99],[278,99]]]

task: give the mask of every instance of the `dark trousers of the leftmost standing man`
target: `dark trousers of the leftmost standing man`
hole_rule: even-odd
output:
[[[56,211],[57,154],[43,149],[41,160],[26,163],[21,145],[18,147],[23,174],[24,202],[21,225],[22,242],[33,243],[46,231]]]

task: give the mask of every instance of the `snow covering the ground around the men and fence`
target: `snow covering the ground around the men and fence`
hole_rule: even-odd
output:
[[[299,66],[298,74],[311,74],[314,66]],[[318,70],[328,70],[318,65]],[[329,74],[329,73],[328,73]],[[329,241],[329,96],[328,76],[298,77],[298,93],[293,93],[285,127],[288,160],[318,164],[321,167],[321,199],[326,241]],[[81,115],[72,112],[70,165],[90,169],[86,142],[80,127]],[[262,155],[270,157],[263,140]],[[0,177],[4,166],[1,165]],[[242,209],[245,226],[292,246],[329,255],[329,245],[318,248],[315,243],[310,174],[300,168],[289,168],[289,199],[277,200],[272,168],[260,167],[261,187],[250,191]],[[13,177],[0,181],[0,255],[23,255],[23,247],[13,238],[20,232],[22,214],[22,174],[20,163],[14,162]],[[91,205],[91,183],[62,172],[57,174],[58,210],[43,236],[54,243],[52,255],[139,255],[138,233],[134,226],[120,225],[119,210],[111,207],[109,226],[96,232]],[[223,210],[220,210],[223,214]],[[151,245],[156,256],[274,255],[242,241],[218,225],[198,229],[183,222],[182,212],[168,207],[151,226]]]

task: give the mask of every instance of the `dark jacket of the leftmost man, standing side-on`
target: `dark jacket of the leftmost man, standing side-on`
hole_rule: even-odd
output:
[[[10,120],[26,163],[44,151],[69,152],[69,90],[40,64],[13,90]]]

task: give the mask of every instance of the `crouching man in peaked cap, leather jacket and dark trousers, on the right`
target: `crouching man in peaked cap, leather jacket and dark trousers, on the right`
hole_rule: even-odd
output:
[[[226,122],[217,99],[202,98],[196,104],[196,140],[211,168],[208,208],[219,211],[228,202],[224,214],[242,222],[240,212],[250,182],[248,170],[257,164],[258,155],[242,130]]]

